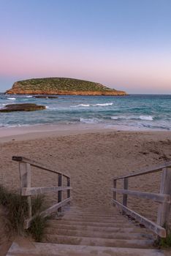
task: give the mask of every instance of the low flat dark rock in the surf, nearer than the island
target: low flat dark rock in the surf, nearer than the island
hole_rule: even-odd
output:
[[[33,103],[26,104],[9,104],[5,108],[0,109],[1,112],[12,112],[12,111],[34,111],[34,110],[44,110],[46,107],[43,105],[36,105]]]

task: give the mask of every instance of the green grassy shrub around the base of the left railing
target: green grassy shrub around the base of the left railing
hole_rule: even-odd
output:
[[[37,217],[31,222],[31,227],[25,232],[23,229],[24,220],[28,214],[28,203],[26,197],[21,197],[17,192],[9,192],[0,185],[0,205],[4,206],[9,232],[14,231],[18,235],[31,234],[35,241],[41,241],[47,218],[39,216],[39,212],[45,206],[45,196],[37,195],[31,200],[32,216]]]

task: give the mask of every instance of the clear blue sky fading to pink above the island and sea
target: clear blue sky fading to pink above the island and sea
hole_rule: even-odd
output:
[[[171,94],[171,1],[0,0],[0,91],[45,77]]]

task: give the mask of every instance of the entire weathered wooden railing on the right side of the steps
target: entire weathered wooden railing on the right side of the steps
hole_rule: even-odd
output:
[[[142,176],[148,173],[156,173],[161,171],[161,184],[160,184],[160,192],[150,193],[150,192],[138,192],[129,190],[129,178],[135,176]],[[116,188],[117,180],[123,180],[123,189]],[[170,208],[171,208],[171,162],[165,162],[162,165],[153,166],[146,168],[145,170],[140,170],[138,172],[131,173],[126,176],[115,177],[113,178],[113,203],[121,209],[122,214],[127,214],[130,217],[140,222],[140,224],[144,225],[148,229],[152,230],[158,236],[165,238],[167,236],[167,227],[169,225],[170,219]],[[116,200],[117,193],[123,194],[123,202],[119,203]],[[132,211],[127,207],[127,197],[128,195],[135,197],[142,197],[145,199],[150,199],[159,203],[158,213],[157,213],[157,222],[152,222],[151,220],[142,217],[137,212]]]

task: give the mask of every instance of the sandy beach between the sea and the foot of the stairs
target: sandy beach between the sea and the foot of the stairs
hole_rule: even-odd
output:
[[[23,156],[69,174],[74,205],[111,208],[113,177],[170,161],[171,132],[88,127],[70,131],[62,127],[1,129],[0,148],[0,183],[4,187],[18,189],[18,163],[12,161],[12,156]],[[159,192],[159,181],[160,173],[131,178],[129,189]],[[32,169],[33,187],[56,184],[55,175]],[[129,197],[129,207],[154,221],[157,206],[149,200]]]

